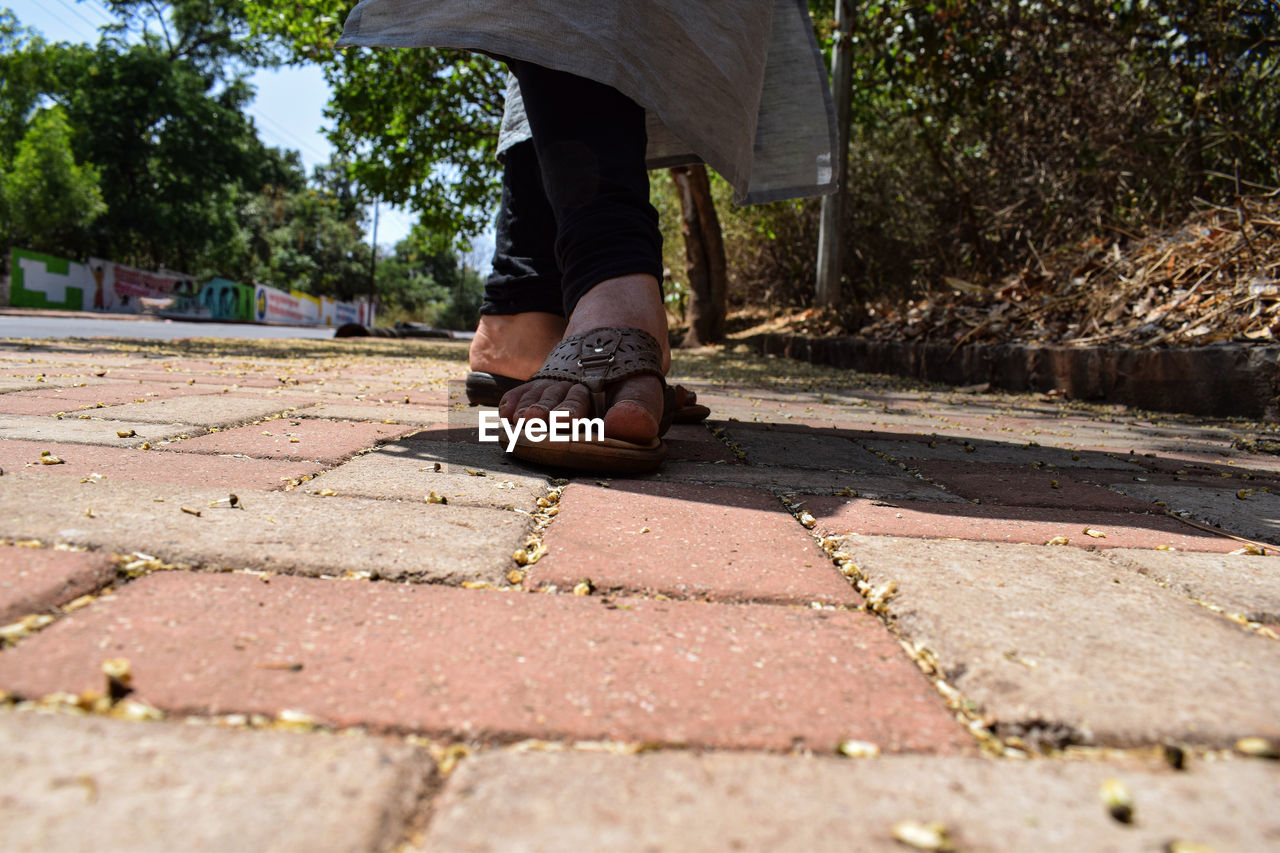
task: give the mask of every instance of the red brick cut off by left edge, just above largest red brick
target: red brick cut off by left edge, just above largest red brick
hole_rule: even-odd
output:
[[[115,578],[102,553],[0,546],[0,625],[91,593]]]

